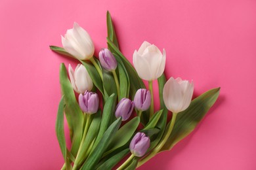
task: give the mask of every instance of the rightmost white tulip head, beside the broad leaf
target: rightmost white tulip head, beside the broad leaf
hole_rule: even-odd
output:
[[[163,87],[165,106],[175,113],[186,110],[190,105],[193,91],[193,82],[190,83],[188,80],[181,80],[181,78],[169,78]]]

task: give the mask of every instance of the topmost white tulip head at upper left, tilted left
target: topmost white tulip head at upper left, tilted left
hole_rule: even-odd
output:
[[[76,22],[73,29],[68,29],[62,37],[62,45],[66,52],[77,59],[91,59],[95,52],[95,46],[90,35]]]

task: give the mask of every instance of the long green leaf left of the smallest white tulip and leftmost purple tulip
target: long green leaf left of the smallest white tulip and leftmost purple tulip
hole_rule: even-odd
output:
[[[81,131],[83,128],[83,112],[76,101],[75,93],[70,80],[68,79],[64,63],[60,65],[60,86],[66,103],[64,112],[66,114],[66,119],[70,128],[70,136],[72,138],[72,148],[70,152],[76,156],[83,135]]]

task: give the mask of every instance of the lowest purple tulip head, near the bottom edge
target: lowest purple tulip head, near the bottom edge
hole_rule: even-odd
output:
[[[130,150],[134,156],[144,156],[150,146],[150,138],[145,133],[136,133],[130,143]]]

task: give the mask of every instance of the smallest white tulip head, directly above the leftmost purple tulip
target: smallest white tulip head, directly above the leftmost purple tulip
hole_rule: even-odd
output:
[[[86,90],[91,91],[93,88],[93,80],[87,69],[81,64],[78,64],[74,70],[71,65],[68,66],[68,73],[70,75],[71,84],[77,93],[85,93]]]

